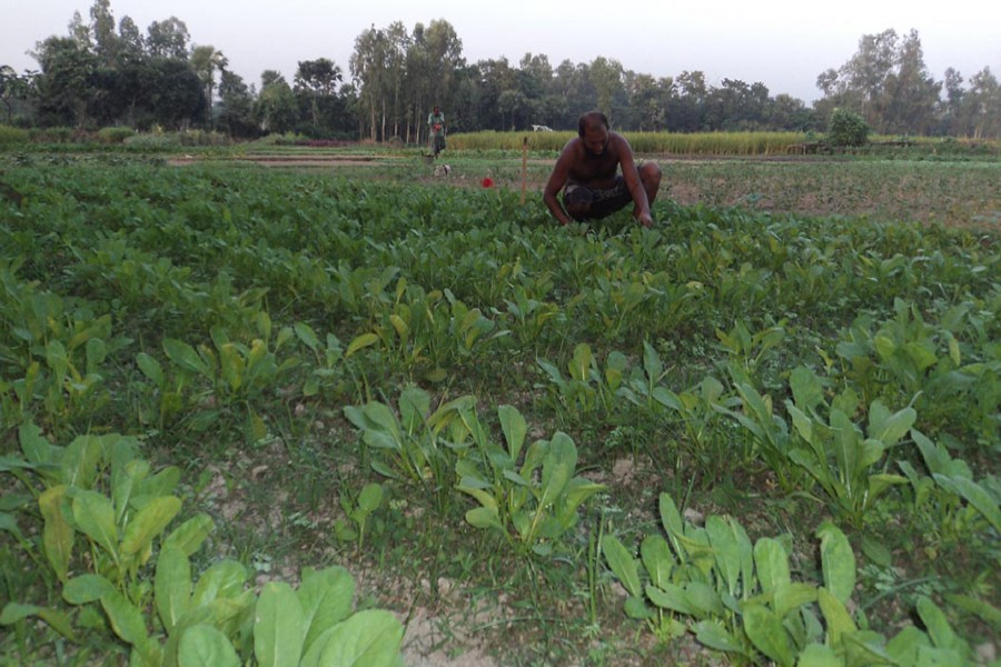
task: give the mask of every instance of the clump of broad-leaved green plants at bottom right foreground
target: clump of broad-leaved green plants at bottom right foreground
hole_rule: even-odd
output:
[[[630,596],[626,615],[662,641],[691,633],[711,649],[783,667],[973,664],[969,645],[928,598],[918,603],[925,630],[910,626],[888,641],[861,629],[849,611],[855,558],[833,524],[816,530],[823,578],[814,584],[792,578],[781,540],[752,545],[733,518],[710,516],[704,528],[694,526],[666,494],[660,510],[666,539],[644,537],[636,558],[606,535],[602,552]]]

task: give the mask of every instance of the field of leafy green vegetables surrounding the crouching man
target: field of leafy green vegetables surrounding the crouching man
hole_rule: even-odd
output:
[[[518,158],[0,158],[0,661],[997,661],[999,165]]]

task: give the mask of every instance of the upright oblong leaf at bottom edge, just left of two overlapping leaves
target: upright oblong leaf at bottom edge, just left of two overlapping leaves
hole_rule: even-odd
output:
[[[285,581],[265,584],[254,617],[254,655],[260,667],[297,667],[306,639],[306,615]]]

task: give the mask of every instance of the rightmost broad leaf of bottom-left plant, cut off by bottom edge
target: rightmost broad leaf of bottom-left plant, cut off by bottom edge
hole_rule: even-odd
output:
[[[318,667],[398,667],[403,634],[388,611],[358,611],[330,631]]]

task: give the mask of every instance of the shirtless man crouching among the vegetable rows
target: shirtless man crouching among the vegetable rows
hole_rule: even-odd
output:
[[[652,227],[650,207],[660,187],[657,163],[637,167],[628,141],[608,129],[605,115],[588,111],[577,121],[577,137],[563,147],[556,159],[543,201],[561,225],[604,218],[632,201],[633,218],[643,227]]]

